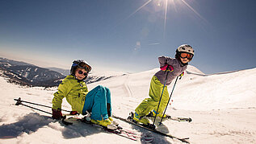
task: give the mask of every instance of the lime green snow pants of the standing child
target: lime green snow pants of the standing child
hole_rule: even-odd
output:
[[[135,112],[138,113],[140,116],[147,115],[153,109],[157,112],[157,106],[160,101],[160,97],[162,94],[162,88],[164,85],[157,79],[157,76],[153,76],[150,82],[149,88],[149,97],[145,98],[141,104],[135,109]],[[169,93],[167,90],[167,86],[165,86],[164,92],[162,94],[161,103],[158,108],[157,113],[163,113],[166,109],[167,102],[169,100]]]

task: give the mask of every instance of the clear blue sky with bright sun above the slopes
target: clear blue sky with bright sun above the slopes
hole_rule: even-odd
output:
[[[67,69],[84,59],[97,71],[141,72],[188,43],[195,49],[190,64],[204,73],[255,68],[255,6],[254,0],[1,0],[0,56]]]

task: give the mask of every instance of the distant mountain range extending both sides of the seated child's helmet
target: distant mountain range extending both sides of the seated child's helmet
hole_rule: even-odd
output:
[[[40,68],[33,64],[22,61],[0,58],[0,76],[8,78],[9,82],[27,85],[52,87],[61,84],[61,80],[69,75],[69,70],[62,68]],[[106,80],[112,76],[120,76],[124,72],[114,72],[111,74],[90,72],[86,78],[86,83],[94,83],[100,80]]]

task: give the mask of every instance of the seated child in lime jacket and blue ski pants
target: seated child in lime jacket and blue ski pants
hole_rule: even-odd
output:
[[[111,93],[101,85],[88,92],[85,79],[91,67],[84,60],[74,60],[70,75],[62,80],[52,99],[52,118],[61,119],[61,103],[65,97],[72,106],[70,114],[90,112],[90,121],[98,125],[111,125]]]

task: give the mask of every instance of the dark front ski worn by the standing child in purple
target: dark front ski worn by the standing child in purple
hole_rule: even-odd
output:
[[[152,127],[135,123],[135,122],[132,121],[132,117],[131,116],[128,117],[127,119],[122,118],[122,117],[117,117],[117,116],[114,116],[114,115],[112,115],[112,117],[120,119],[121,121],[128,122],[129,124],[136,125],[136,126],[141,127],[141,128],[143,128],[145,130],[152,131],[153,133],[160,134],[162,136],[166,136],[166,137],[169,137],[169,138],[172,138],[172,139],[178,139],[181,142],[190,143],[190,142],[187,141],[187,139],[189,139],[189,138],[177,138],[177,137],[174,137],[173,135],[165,134],[165,133],[162,133],[162,132],[160,132],[158,130],[154,130],[154,129],[152,129]]]

